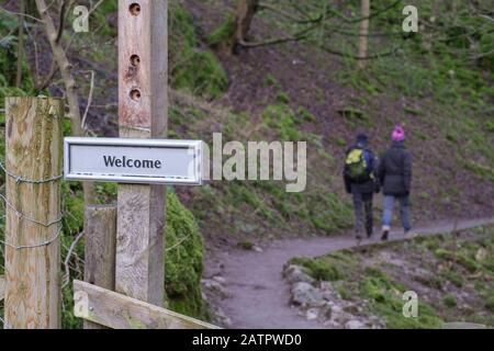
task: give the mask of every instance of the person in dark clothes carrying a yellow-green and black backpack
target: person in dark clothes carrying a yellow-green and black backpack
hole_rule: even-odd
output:
[[[380,185],[374,176],[378,160],[369,149],[369,137],[360,133],[357,141],[346,154],[344,180],[347,193],[352,194],[356,239],[362,240],[363,227],[367,237],[373,233],[372,199]]]

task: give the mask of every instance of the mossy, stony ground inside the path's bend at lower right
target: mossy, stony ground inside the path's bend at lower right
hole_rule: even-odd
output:
[[[386,328],[441,328],[446,322],[494,326],[494,227],[294,258],[311,276],[330,281],[345,299],[364,302]],[[403,294],[418,296],[406,318]]]

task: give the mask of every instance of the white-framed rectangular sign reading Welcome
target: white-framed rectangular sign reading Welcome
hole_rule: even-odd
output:
[[[202,184],[202,141],[65,138],[67,180]]]

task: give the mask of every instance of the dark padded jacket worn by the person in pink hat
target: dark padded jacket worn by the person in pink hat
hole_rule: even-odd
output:
[[[382,156],[378,177],[384,195],[405,196],[412,184],[412,155],[403,141],[393,141]]]

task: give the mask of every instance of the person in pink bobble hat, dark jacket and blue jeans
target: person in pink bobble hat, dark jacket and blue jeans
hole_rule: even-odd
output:
[[[409,191],[412,185],[412,156],[405,147],[405,131],[397,125],[391,135],[391,147],[383,155],[379,165],[378,177],[384,194],[384,213],[382,217],[382,240],[388,240],[393,219],[395,200],[400,202],[400,214],[405,235],[412,230]]]

